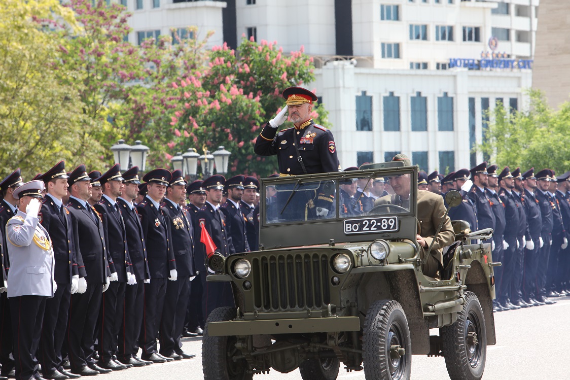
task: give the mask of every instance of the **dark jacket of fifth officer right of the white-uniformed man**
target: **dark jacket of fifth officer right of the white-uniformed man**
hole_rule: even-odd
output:
[[[176,269],[168,217],[146,197],[137,204],[137,211],[143,227],[150,278],[168,278],[170,270]]]

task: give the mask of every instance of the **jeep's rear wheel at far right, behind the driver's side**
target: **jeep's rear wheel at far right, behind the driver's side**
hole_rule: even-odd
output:
[[[441,328],[443,356],[451,380],[479,380],[487,357],[485,318],[479,299],[465,292],[463,310],[457,322]]]

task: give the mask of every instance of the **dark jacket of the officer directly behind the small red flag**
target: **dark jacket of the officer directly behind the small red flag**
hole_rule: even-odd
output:
[[[226,228],[226,216],[221,210],[214,211],[211,204],[207,203],[198,211],[196,215],[198,224],[194,229],[194,240],[196,240],[196,256],[200,264],[198,270],[206,270],[204,262],[206,260],[206,247],[201,242],[200,237],[202,228],[210,234],[216,246],[216,252],[221,253],[223,256],[229,256],[235,253],[234,246],[231,244],[231,236]]]

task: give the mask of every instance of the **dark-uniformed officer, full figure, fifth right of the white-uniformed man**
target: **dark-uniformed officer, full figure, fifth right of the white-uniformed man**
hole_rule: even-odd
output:
[[[143,181],[148,183],[146,187],[148,193],[137,205],[150,270],[150,283],[145,284],[144,290],[143,327],[139,335],[139,346],[143,349],[141,358],[153,363],[173,361],[172,358],[158,354],[156,349],[156,338],[166,296],[166,281],[178,277],[170,223],[160,208],[160,202],[171,179],[172,173],[166,169],[154,169],[146,173]]]

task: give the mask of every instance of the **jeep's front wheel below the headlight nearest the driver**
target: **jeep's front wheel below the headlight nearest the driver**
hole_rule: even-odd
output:
[[[412,340],[397,301],[376,301],[364,321],[364,374],[367,380],[407,380],[412,372]]]

